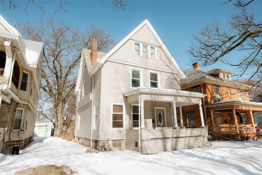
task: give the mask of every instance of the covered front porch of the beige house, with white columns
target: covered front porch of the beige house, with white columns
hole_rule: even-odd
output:
[[[130,104],[129,129],[126,130],[125,141],[127,150],[151,154],[208,146],[201,106],[204,94],[137,88],[124,93],[124,96]],[[189,122],[183,121],[182,106],[192,104],[199,104],[200,128],[189,128]],[[177,110],[180,118],[177,118]]]

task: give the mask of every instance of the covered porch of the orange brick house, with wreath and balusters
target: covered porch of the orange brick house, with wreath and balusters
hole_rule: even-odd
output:
[[[207,104],[212,129],[231,137],[246,137],[256,135],[256,120],[254,113],[262,111],[262,104],[244,101],[222,101]]]

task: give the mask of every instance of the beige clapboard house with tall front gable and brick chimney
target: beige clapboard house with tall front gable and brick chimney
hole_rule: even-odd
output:
[[[142,154],[208,146],[198,92],[181,91],[185,78],[148,19],[107,53],[83,49],[77,77],[75,139],[95,149]],[[84,94],[84,95],[83,95]],[[199,128],[177,109],[199,104]],[[190,121],[190,118],[189,118]]]

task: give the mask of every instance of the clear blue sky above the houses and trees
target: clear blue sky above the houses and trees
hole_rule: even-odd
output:
[[[7,22],[15,24],[18,21],[30,20],[33,23],[41,18],[42,12],[32,3],[28,7],[28,15],[23,11],[26,1],[12,1],[18,9],[9,10],[8,1],[0,3],[0,14]],[[123,39],[130,31],[148,18],[160,38],[166,44],[173,57],[183,70],[192,68],[189,55],[185,50],[194,42],[191,33],[198,34],[203,27],[215,21],[227,28],[226,20],[230,13],[235,13],[233,3],[223,4],[225,1],[134,1],[129,0],[125,10],[117,10],[111,1],[69,1],[64,8],[67,12],[56,12],[59,1],[36,1],[45,11],[44,17],[51,15],[57,21],[64,20],[66,24],[85,28],[94,21],[97,25],[106,29],[117,42]],[[262,1],[255,1],[248,6],[248,10],[254,10],[256,19],[262,17]],[[230,54],[231,59],[238,60],[242,55],[238,52]],[[237,73],[236,67],[230,67],[217,62],[215,65],[200,67],[208,71],[213,68]],[[245,75],[244,78],[248,78]]]

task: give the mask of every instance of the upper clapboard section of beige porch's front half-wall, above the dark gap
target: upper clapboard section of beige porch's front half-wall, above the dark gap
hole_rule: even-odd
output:
[[[206,128],[187,128],[187,129],[152,129],[142,130],[142,140],[170,138],[170,137],[189,137],[204,136],[207,137]]]

